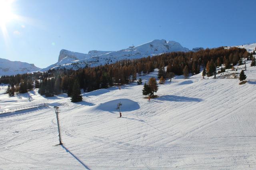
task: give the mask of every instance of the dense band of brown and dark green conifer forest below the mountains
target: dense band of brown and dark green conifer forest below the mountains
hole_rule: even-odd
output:
[[[204,68],[206,68],[207,76],[212,76],[216,71],[216,66],[225,64],[225,68],[231,68],[241,61],[241,58],[246,55],[245,53],[248,53],[246,49],[237,47],[229,49],[218,47],[197,52],[172,52],[154,57],[122,60],[114,64],[85,67],[79,70],[64,68],[52,69],[47,72],[2,76],[0,83],[10,84],[10,89],[17,93],[27,92],[32,89],[32,84],[34,84],[35,88],[39,88],[38,92],[46,97],[58,95],[61,92],[72,96],[74,86],[83,89],[84,92],[90,92],[117,84],[127,84],[134,82],[137,75],[148,74],[155,68],[160,69],[159,78],[170,78],[170,75],[173,74],[185,74],[186,76],[188,73],[198,74]],[[164,66],[167,66],[166,72],[163,70]],[[184,71],[186,72],[184,73]],[[78,82],[78,84],[74,84],[74,82]]]

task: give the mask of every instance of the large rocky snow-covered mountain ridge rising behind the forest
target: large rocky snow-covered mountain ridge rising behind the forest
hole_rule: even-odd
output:
[[[174,51],[187,52],[190,50],[182,47],[178,42],[166,41],[164,39],[155,39],[148,43],[119,51],[89,51],[88,54],[82,54],[68,50],[61,50],[58,62],[48,66],[47,68],[43,68],[41,71],[47,71],[51,68],[58,67],[78,69],[86,65],[98,66],[101,64],[115,63],[116,61],[125,59],[138,59]]]

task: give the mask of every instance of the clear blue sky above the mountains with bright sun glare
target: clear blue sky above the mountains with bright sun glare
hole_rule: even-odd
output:
[[[219,47],[256,41],[255,0],[15,0],[0,58],[44,68],[61,49],[119,50],[153,39]]]

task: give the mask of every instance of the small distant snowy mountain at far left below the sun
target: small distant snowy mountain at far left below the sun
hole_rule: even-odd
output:
[[[34,64],[0,58],[0,76],[23,74],[38,71],[40,69],[41,68],[36,67]]]

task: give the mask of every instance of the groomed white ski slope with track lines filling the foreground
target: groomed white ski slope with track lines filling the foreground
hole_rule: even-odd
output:
[[[244,65],[236,68],[224,74]],[[8,97],[2,85],[1,110],[49,106],[0,115],[0,169],[256,169],[256,66],[250,61],[245,74],[243,85],[219,74],[177,76],[150,101],[142,88],[157,70],[138,77],[142,85],[83,93],[79,103],[37,90]]]

